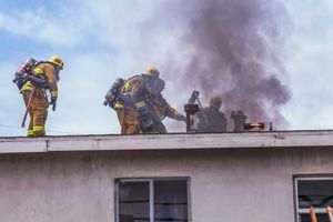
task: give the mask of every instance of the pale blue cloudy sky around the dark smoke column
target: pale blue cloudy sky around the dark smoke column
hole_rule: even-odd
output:
[[[258,38],[270,43],[264,48],[265,54],[274,57],[264,61],[273,63],[273,71],[279,70],[279,74],[272,77],[276,78],[280,89],[286,91],[286,97],[279,103],[272,98],[280,91],[261,91],[273,93],[263,103],[266,105],[265,121],[271,119],[274,124],[274,117],[279,117],[276,122],[283,120],[276,123],[279,130],[333,129],[333,103],[330,102],[333,101],[330,84],[333,79],[333,1],[253,0],[253,4],[248,2],[249,6],[234,1],[238,2],[235,6],[230,0],[208,0],[214,1],[219,2],[223,13],[234,8],[268,14],[250,16],[246,20],[252,21],[254,28],[261,28],[263,33]],[[31,0],[29,3],[0,0],[0,137],[26,135],[27,129],[20,128],[24,104],[11,80],[30,57],[48,60],[54,54],[64,62],[58,107],[56,112],[49,110],[47,133],[50,135],[119,133],[115,112],[103,105],[104,94],[117,78],[140,74],[148,65],[160,69],[167,82],[163,95],[180,112],[183,113],[183,104],[193,89],[203,92],[201,102],[208,105],[210,94],[200,83],[212,78],[202,73],[193,74],[195,81],[189,80],[193,65],[192,69],[189,67],[193,61],[205,60],[200,50],[206,42],[201,44],[201,40],[205,39],[205,33],[214,38],[211,31],[222,29],[230,17],[219,17],[220,23],[214,22],[210,28],[210,22],[200,23],[209,17],[202,13],[205,7],[198,0]],[[251,22],[242,23],[242,27],[246,26]],[[205,28],[211,31],[196,31]],[[233,34],[242,33],[232,26],[229,29]],[[256,39],[252,40],[255,42]],[[231,47],[233,50],[236,48]],[[224,54],[218,54],[221,56],[218,59],[225,59]],[[199,68],[202,72],[205,70],[202,65]],[[264,68],[263,72],[270,71]],[[226,78],[231,77],[221,78],[228,82]],[[256,78],[246,79],[246,85]],[[229,85],[221,84],[221,90],[212,88],[212,91],[221,93],[225,101],[222,110],[229,117],[231,107],[228,102],[234,101],[223,98],[229,93],[224,90]],[[242,107],[241,102],[234,104]],[[250,117],[250,120],[260,121],[258,117]],[[165,125],[171,132],[185,131],[184,124],[173,120],[165,120]]]

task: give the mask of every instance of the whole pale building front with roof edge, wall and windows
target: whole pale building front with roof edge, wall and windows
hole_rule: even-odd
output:
[[[333,131],[0,138],[3,222],[307,222]]]

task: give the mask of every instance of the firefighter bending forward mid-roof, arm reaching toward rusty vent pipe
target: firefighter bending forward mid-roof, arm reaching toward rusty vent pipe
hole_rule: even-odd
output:
[[[164,81],[154,67],[148,67],[140,75],[127,80],[114,105],[121,125],[121,134],[165,133],[162,117],[185,120],[171,108],[162,95]]]

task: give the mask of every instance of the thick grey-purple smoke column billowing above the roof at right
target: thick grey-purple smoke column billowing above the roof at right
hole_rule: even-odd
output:
[[[279,108],[291,97],[281,82],[291,24],[283,4],[184,0],[176,7],[192,7],[195,14],[184,16],[190,17],[189,26],[178,46],[186,60],[172,62],[169,71],[181,77],[182,84],[199,88],[201,100],[222,95],[228,117],[231,110],[242,109],[249,121],[285,127]]]

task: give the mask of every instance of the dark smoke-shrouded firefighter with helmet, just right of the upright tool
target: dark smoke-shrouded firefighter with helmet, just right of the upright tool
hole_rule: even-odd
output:
[[[221,105],[221,97],[214,95],[210,99],[210,107],[203,108],[198,112],[199,132],[226,132],[226,118],[220,111]]]

